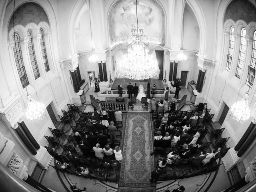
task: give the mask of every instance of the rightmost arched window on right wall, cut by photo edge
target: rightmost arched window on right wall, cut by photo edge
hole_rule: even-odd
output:
[[[254,31],[253,34],[253,44],[252,44],[252,58],[251,58],[251,63],[248,69],[248,76],[246,80],[246,84],[250,87],[253,85],[253,81],[255,78],[255,65],[256,65],[256,31]]]

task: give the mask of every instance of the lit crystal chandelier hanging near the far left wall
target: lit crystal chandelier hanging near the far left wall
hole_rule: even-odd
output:
[[[40,102],[36,102],[32,99],[32,96],[28,94],[26,97],[28,100],[28,108],[26,109],[26,118],[30,121],[40,121],[45,114],[45,106]]]

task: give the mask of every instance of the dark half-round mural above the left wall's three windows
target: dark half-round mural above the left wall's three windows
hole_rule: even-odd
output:
[[[29,3],[22,4],[15,10],[14,16],[15,16],[14,25],[20,24],[25,27],[27,24],[31,22],[38,25],[40,22],[44,21],[48,23],[48,25],[50,26],[49,19],[46,12],[37,3],[29,2]],[[8,24],[8,34],[12,28],[13,28],[13,14]]]

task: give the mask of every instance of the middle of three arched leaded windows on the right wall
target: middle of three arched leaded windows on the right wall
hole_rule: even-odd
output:
[[[242,70],[243,70],[244,60],[245,60],[245,51],[246,51],[245,34],[246,34],[246,30],[245,30],[245,28],[242,28],[241,39],[240,39],[240,49],[239,49],[239,56],[238,56],[238,64],[236,67],[236,74],[235,74],[235,76],[239,79],[242,75]]]

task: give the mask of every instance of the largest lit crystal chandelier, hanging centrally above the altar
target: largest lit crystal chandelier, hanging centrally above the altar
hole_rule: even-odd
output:
[[[148,46],[148,36],[143,29],[138,29],[138,13],[136,0],[137,28],[132,29],[132,35],[127,38],[128,54],[124,56],[121,66],[121,74],[129,79],[148,79],[157,73],[157,62],[145,50]]]

